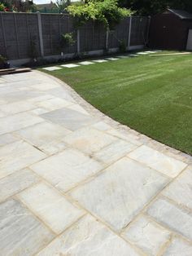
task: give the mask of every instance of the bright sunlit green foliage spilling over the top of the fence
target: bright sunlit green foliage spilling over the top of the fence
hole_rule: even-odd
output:
[[[88,20],[95,20],[105,24],[109,29],[131,14],[130,10],[119,7],[118,0],[89,0],[70,5],[67,10],[77,18],[79,25],[85,24]]]

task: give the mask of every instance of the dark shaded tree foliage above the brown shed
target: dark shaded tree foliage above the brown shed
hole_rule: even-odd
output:
[[[167,7],[192,12],[191,0],[119,0],[120,7],[130,8],[137,15],[154,15]]]

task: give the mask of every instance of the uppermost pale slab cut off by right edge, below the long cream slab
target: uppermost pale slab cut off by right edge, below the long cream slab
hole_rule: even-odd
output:
[[[181,173],[164,190],[163,195],[192,210],[192,166]]]

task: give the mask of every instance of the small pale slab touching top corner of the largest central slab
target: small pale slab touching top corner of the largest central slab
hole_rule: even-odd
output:
[[[120,157],[124,157],[135,148],[137,148],[136,145],[118,139],[100,151],[95,152],[93,157],[99,161],[103,161],[104,163],[109,164],[118,160]]]

